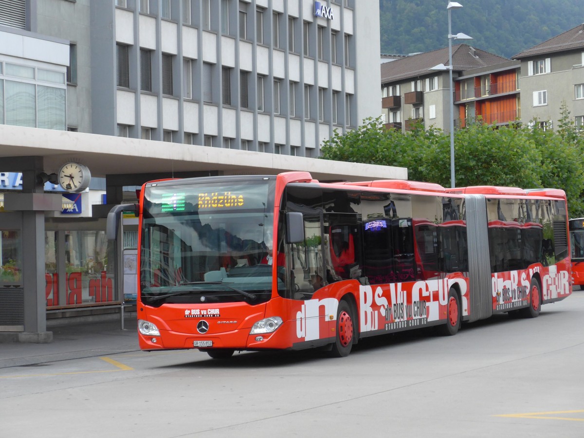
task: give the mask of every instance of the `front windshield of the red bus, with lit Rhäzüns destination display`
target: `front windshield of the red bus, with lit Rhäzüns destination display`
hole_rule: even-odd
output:
[[[274,181],[172,183],[144,190],[142,302],[269,300]]]

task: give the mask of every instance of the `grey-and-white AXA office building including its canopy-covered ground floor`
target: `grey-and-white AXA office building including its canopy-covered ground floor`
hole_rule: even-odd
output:
[[[119,307],[105,216],[147,180],[406,179],[314,159],[333,130],[381,111],[378,12],[374,0],[0,2],[0,340],[46,342],[47,317]],[[77,217],[52,184],[69,161],[105,193],[79,193]],[[124,230],[118,249],[135,249],[135,223]]]

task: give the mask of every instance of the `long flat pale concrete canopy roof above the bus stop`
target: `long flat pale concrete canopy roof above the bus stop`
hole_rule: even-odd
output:
[[[174,172],[201,171],[218,171],[220,175],[274,175],[308,171],[312,178],[321,180],[408,178],[407,169],[393,166],[3,125],[0,126],[0,172],[23,170],[3,166],[8,157],[43,157],[46,173],[57,172],[64,162],[77,161],[88,166],[94,177],[131,173],[168,173],[171,177]]]

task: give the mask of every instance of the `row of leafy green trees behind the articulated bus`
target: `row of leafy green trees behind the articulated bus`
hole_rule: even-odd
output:
[[[568,196],[570,217],[583,216],[584,134],[567,122],[557,132],[534,126],[476,123],[456,131],[456,186],[558,188]],[[369,118],[345,135],[335,131],[321,152],[324,159],[405,167],[410,180],[450,186],[450,135],[435,127],[402,134]]]

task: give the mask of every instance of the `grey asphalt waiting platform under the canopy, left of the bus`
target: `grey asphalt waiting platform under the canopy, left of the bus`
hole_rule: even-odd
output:
[[[140,350],[135,316],[48,326],[50,343],[0,343],[0,369]]]

